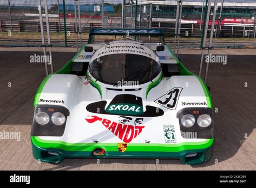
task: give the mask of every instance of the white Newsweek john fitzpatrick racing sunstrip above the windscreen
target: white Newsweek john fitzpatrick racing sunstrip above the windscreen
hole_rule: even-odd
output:
[[[117,54],[117,53],[132,53],[137,55],[142,55],[146,57],[150,57],[156,61],[156,55],[155,53],[146,45],[141,44],[135,44],[135,43],[113,43],[113,44],[107,44],[102,46],[99,50],[97,50],[93,57],[91,58],[91,61],[94,61],[95,59],[106,56],[110,54]]]

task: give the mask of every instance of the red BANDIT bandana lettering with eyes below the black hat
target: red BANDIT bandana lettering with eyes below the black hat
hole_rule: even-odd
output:
[[[91,116],[91,118],[86,118],[86,120],[88,123],[101,123],[125,143],[132,142],[145,127],[142,125],[143,118],[140,117],[119,116],[119,123],[98,116]]]

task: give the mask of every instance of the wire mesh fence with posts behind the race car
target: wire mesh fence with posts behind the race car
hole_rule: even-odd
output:
[[[53,46],[75,46],[78,4],[73,0],[48,0],[50,37]],[[122,13],[122,3],[124,12]],[[182,1],[180,47],[201,46],[202,30],[207,0]],[[63,5],[65,4],[65,6]],[[213,13],[209,18],[208,38]],[[102,12],[102,5],[104,11]],[[166,42],[172,46],[176,22],[177,1],[123,1],[123,0],[80,0],[81,38],[87,42],[90,28],[162,28]],[[75,11],[76,9],[76,11]],[[42,0],[44,30],[44,0]],[[256,45],[255,38],[256,2],[254,0],[219,0],[212,46],[241,47]],[[40,46],[41,26],[38,1],[0,1],[0,46]],[[45,32],[45,39],[47,33]]]

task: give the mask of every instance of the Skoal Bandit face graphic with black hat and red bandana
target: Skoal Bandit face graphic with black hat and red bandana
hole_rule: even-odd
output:
[[[145,128],[145,118],[163,115],[163,110],[154,106],[146,106],[143,112],[142,98],[134,95],[117,95],[109,105],[102,100],[87,105],[86,109],[94,113],[86,118],[88,123],[102,124],[124,143],[130,143],[140,135]]]

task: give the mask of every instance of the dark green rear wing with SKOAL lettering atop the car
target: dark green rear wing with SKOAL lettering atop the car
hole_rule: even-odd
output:
[[[93,28],[90,30],[88,44],[95,42],[95,36],[149,36],[150,37],[159,37],[159,42],[165,44],[165,37],[163,36],[162,29],[103,29],[103,28]],[[139,37],[138,37],[139,38]]]

